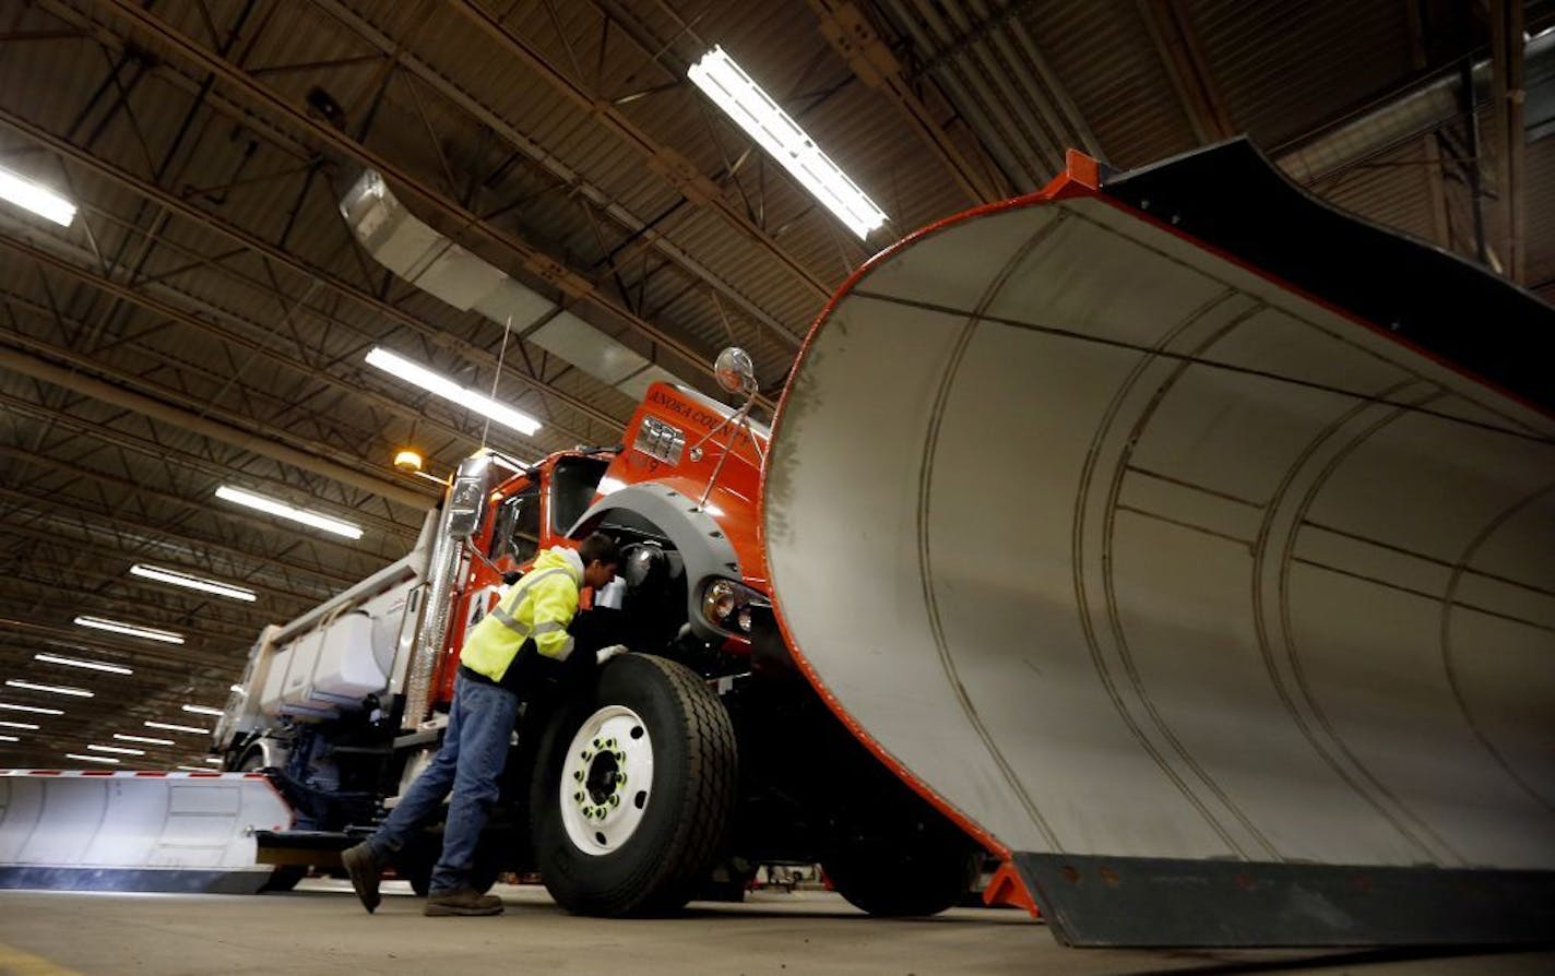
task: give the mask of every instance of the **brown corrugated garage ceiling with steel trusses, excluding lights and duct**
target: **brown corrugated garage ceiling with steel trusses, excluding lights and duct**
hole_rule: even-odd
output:
[[[1519,20],[1521,54],[1493,44]],[[0,766],[208,726],[182,706],[219,707],[263,625],[409,550],[437,486],[395,451],[446,474],[484,421],[369,368],[375,345],[494,381],[543,423],[493,426],[513,455],[613,444],[634,404],[532,337],[554,317],[708,392],[718,348],[743,345],[776,398],[879,247],[1040,186],[1070,146],[1132,168],[1233,134],[1334,205],[1555,298],[1552,23],[1555,3],[1504,0],[8,3],[0,165],[79,211],[0,205],[0,668],[95,696],[0,688],[64,712],[0,712]],[[687,82],[714,45],[885,228],[858,241]],[[1497,99],[1518,73],[1527,98]],[[549,311],[504,350],[490,317],[378,263],[339,210],[365,169]],[[222,483],[364,535],[233,507]],[[201,762],[204,737],[169,737],[124,768]]]

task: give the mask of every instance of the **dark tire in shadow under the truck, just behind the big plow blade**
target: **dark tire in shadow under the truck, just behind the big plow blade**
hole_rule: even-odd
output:
[[[837,894],[871,915],[938,915],[972,891],[980,858],[959,831],[921,827],[838,845],[821,870]]]

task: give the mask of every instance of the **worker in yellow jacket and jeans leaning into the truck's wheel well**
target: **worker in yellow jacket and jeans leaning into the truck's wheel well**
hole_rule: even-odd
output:
[[[519,699],[538,690],[546,670],[561,670],[561,662],[572,656],[577,642],[568,628],[578,609],[578,589],[599,591],[616,577],[619,563],[616,542],[599,532],[577,550],[554,546],[470,631],[459,654],[442,749],[376,833],[341,853],[351,887],[369,912],[378,908],[384,864],[437,814],[449,790],[443,852],[432,869],[425,914],[502,912],[501,898],[471,887],[470,870],[480,830],[498,799]],[[603,661],[616,651],[585,647],[578,653],[591,657],[597,653]],[[575,662],[568,670],[574,667]]]

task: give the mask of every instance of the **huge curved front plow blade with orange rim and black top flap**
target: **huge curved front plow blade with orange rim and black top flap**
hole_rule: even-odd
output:
[[[816,322],[781,625],[1061,942],[1549,939],[1549,334],[1246,143],[1071,157]]]

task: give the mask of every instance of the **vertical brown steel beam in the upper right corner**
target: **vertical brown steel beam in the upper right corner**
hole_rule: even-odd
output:
[[[1490,0],[1490,71],[1494,85],[1496,208],[1501,213],[1502,272],[1522,283],[1525,241],[1522,227],[1522,180],[1525,135],[1522,132],[1522,0]]]

